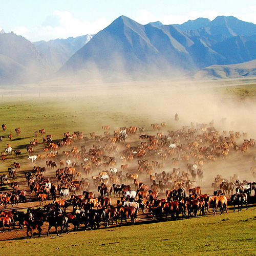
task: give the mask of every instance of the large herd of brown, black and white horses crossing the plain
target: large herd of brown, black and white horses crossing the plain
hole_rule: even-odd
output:
[[[178,122],[178,116],[175,120]],[[5,131],[6,125],[2,127]],[[243,205],[248,209],[248,200],[256,197],[255,182],[239,182],[238,175],[229,181],[218,175],[212,183],[214,195],[203,194],[198,183],[204,179],[206,164],[246,154],[254,147],[253,139],[248,140],[246,134],[242,139],[239,132],[217,131],[213,121],[191,123],[176,131],[165,131],[165,122],[151,127],[145,133],[144,127],[123,126],[111,135],[106,125],[102,126],[104,135],[93,132],[88,139],[82,132],[67,132],[61,140],[51,135],[43,138],[46,132],[41,129],[41,143],[35,132],[38,139],[26,147],[27,153],[15,154],[16,159],[28,158],[33,169],[24,170],[14,162],[13,167],[7,166],[9,178],[8,173],[1,176],[2,185],[12,181],[13,191],[0,194],[4,208],[0,210],[0,227],[3,231],[16,225],[26,227],[31,237],[34,229],[40,236],[45,222],[49,223],[48,235],[52,227],[58,234],[68,232],[70,225],[74,230],[81,224],[83,229],[99,228],[101,223],[108,227],[111,220],[112,225],[114,221],[117,225],[118,220],[122,225],[129,218],[135,223],[148,216],[152,220],[168,220],[168,216],[176,220],[210,212],[215,216],[218,210],[220,214],[228,212],[228,202],[233,211],[236,205],[239,211]],[[20,131],[15,129],[16,135],[20,136]],[[4,154],[7,159],[12,157],[10,148],[8,143],[8,154]],[[31,155],[34,148],[41,152]],[[60,150],[62,154],[58,154]],[[36,166],[36,162],[44,166]],[[256,177],[253,167],[251,176]],[[17,177],[19,181],[15,182]],[[25,180],[27,187],[19,190],[19,182]],[[26,207],[28,196],[40,207]],[[15,209],[19,203],[24,210]],[[12,209],[8,210],[10,205]]]

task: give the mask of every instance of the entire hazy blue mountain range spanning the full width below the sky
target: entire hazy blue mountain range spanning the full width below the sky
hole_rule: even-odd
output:
[[[253,76],[254,59],[256,25],[233,16],[218,16],[212,21],[198,18],[181,25],[160,22],[141,25],[120,16],[94,36],[48,42],[32,43],[14,33],[0,33],[1,83],[66,75],[86,80],[100,77],[103,81],[124,77],[161,79],[184,74],[193,78],[206,78],[207,74],[220,78],[245,75],[238,70],[246,70],[247,66],[250,68],[246,75]],[[215,76],[220,74],[215,69],[221,69],[222,75]]]

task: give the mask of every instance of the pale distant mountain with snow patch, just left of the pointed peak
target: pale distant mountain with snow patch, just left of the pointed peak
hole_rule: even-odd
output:
[[[51,66],[59,69],[75,52],[87,44],[92,35],[55,39],[50,41],[37,41],[33,44],[43,53]]]

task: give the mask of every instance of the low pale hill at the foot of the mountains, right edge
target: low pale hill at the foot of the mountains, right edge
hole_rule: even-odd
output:
[[[256,76],[256,60],[233,65],[213,65],[187,75],[188,79],[227,79]]]

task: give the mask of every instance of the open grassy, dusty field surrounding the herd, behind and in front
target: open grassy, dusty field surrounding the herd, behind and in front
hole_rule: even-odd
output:
[[[7,143],[11,143],[13,150],[20,149],[22,155],[16,158],[8,156],[5,162],[0,162],[0,175],[8,174],[7,168],[18,161],[22,168],[17,173],[15,182],[20,188],[28,191],[28,202],[20,203],[16,209],[26,210],[28,207],[38,207],[35,202],[35,195],[30,195],[29,187],[26,184],[24,173],[33,168],[29,164],[26,145],[35,139],[34,132],[44,128],[46,135],[51,134],[54,141],[60,141],[65,132],[82,131],[84,136],[89,137],[86,143],[75,142],[75,145],[86,144],[87,148],[93,144],[104,146],[104,142],[95,142],[90,139],[89,133],[95,132],[102,135],[101,126],[110,125],[111,134],[120,126],[145,127],[145,133],[154,135],[157,132],[152,130],[152,123],[166,122],[166,129],[162,132],[177,131],[190,122],[209,124],[214,119],[217,130],[247,132],[248,139],[256,138],[254,113],[256,105],[254,99],[254,85],[243,84],[236,81],[236,86],[218,87],[217,83],[205,89],[205,85],[197,88],[191,86],[189,89],[175,86],[168,87],[168,84],[157,87],[151,84],[129,84],[122,86],[110,86],[103,88],[76,88],[67,94],[58,91],[48,93],[45,97],[41,93],[26,95],[19,94],[4,95],[0,100],[1,124],[6,123],[6,131],[0,131],[3,136],[0,144],[1,152],[4,152]],[[238,83],[238,84],[237,84]],[[212,83],[213,84],[213,83]],[[171,88],[171,89],[170,89]],[[80,90],[80,91],[79,91]],[[248,93],[247,93],[248,91]],[[238,93],[237,93],[238,92]],[[46,93],[46,92],[45,92]],[[244,96],[249,94],[250,97]],[[79,96],[78,96],[79,95]],[[238,96],[238,97],[237,97]],[[246,99],[244,99],[246,98]],[[175,113],[179,114],[180,120],[174,120]],[[14,129],[20,127],[22,133],[16,135]],[[8,140],[8,135],[13,134],[13,140]],[[41,135],[37,137],[39,144],[34,147],[34,154],[42,153],[44,144]],[[126,143],[138,145],[139,133],[129,137]],[[240,145],[243,138],[237,140]],[[118,145],[118,152],[125,149],[124,144]],[[70,150],[71,147],[63,150]],[[56,157],[58,163],[61,156]],[[245,154],[231,152],[226,159],[220,158],[216,162],[207,162],[203,167],[204,178],[197,180],[202,187],[203,193],[212,194],[211,183],[217,174],[229,179],[233,174],[238,174],[239,179],[255,181],[250,172],[254,166],[253,156],[256,155],[254,147],[249,148]],[[116,157],[119,157],[118,154]],[[38,160],[36,165],[46,166],[46,160]],[[136,161],[130,164],[131,173],[137,172]],[[189,162],[193,162],[191,158]],[[120,168],[120,160],[117,168]],[[59,167],[59,166],[58,166]],[[172,172],[175,166],[171,160],[166,161],[165,171]],[[186,163],[181,162],[179,166],[186,170]],[[162,170],[156,170],[161,172]],[[94,170],[93,175],[97,174]],[[47,170],[46,177],[56,182],[55,170]],[[141,175],[141,180],[150,185],[150,179]],[[13,182],[13,179],[9,179]],[[134,187],[132,187],[134,188]],[[95,194],[99,193],[92,188]],[[164,197],[164,193],[160,195]],[[115,199],[116,200],[116,199]],[[116,202],[113,199],[113,202]],[[51,200],[48,201],[48,203]],[[230,206],[229,206],[230,207]],[[3,206],[0,206],[3,209]],[[9,208],[7,208],[9,209]],[[72,207],[69,208],[71,210]],[[255,255],[255,227],[256,227],[256,206],[252,204],[249,210],[232,212],[213,217],[212,214],[199,218],[181,219],[178,221],[158,222],[148,220],[141,215],[135,225],[123,225],[122,227],[110,226],[92,231],[76,231],[56,237],[54,228],[49,237],[46,237],[46,229],[42,232],[41,238],[26,238],[26,231],[14,231],[0,233],[0,247],[3,255],[74,255],[89,254],[99,255],[101,253],[115,253],[117,255]],[[169,220],[169,219],[168,219]],[[47,224],[46,224],[47,226]],[[70,229],[71,230],[71,229]],[[21,239],[20,239],[21,238]],[[14,240],[12,240],[14,239]]]

